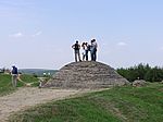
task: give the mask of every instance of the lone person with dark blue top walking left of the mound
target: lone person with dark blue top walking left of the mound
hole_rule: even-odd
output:
[[[18,71],[17,71],[17,68],[15,65],[12,65],[11,75],[12,75],[12,85],[13,85],[13,87],[16,87]]]

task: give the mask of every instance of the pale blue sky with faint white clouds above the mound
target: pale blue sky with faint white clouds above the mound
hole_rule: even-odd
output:
[[[0,0],[0,68],[60,69],[75,40],[112,68],[163,66],[163,0]]]

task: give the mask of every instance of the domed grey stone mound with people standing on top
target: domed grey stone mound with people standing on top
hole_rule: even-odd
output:
[[[55,73],[45,87],[57,88],[106,88],[125,85],[129,82],[116,71],[95,61],[73,62]]]

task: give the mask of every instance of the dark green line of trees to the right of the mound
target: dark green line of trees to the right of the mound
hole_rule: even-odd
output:
[[[129,82],[134,82],[135,80],[145,80],[146,82],[163,81],[163,68],[151,68],[149,64],[143,63],[126,69],[117,69],[117,73],[127,78]]]

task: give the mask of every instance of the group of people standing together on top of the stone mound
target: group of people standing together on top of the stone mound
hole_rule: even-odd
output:
[[[88,42],[83,42],[82,46],[79,45],[78,40],[72,46],[75,53],[75,62],[82,61],[80,59],[80,47],[83,49],[83,61],[88,61],[88,52],[90,51],[91,61],[97,60],[97,48],[98,44],[96,39],[90,40],[90,45]]]

